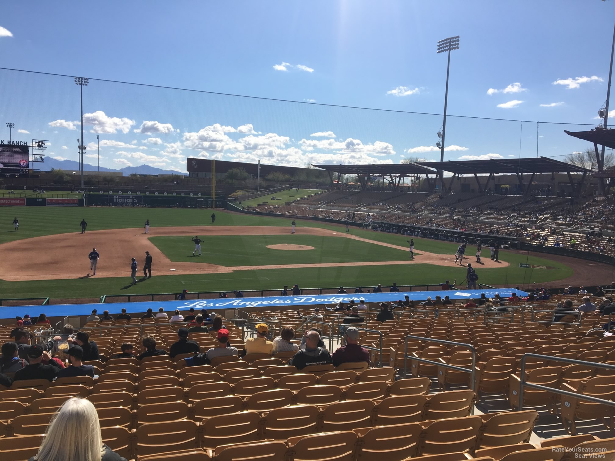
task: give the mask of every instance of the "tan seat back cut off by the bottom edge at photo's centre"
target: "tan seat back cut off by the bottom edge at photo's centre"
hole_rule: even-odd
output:
[[[357,435],[339,431],[288,440],[293,461],[354,461]]]

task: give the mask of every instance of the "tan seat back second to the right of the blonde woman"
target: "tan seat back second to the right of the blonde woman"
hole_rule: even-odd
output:
[[[199,448],[197,424],[181,421],[142,424],[135,433],[135,454],[138,457],[164,452]]]

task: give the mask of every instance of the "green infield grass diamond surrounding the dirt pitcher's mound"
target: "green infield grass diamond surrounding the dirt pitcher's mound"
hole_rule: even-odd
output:
[[[407,250],[320,235],[215,235],[202,245],[202,255],[192,256],[190,237],[150,237],[149,240],[175,262],[208,262],[220,266],[268,266],[272,264],[320,264],[363,261],[407,261]],[[293,243],[314,250],[274,250],[268,245]],[[418,254],[418,253],[417,253]]]

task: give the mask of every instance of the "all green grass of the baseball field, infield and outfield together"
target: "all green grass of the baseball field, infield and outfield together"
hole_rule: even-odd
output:
[[[185,258],[192,254],[194,245],[186,241],[188,237],[181,237],[181,244],[175,242],[177,237],[155,237],[158,226],[211,226],[211,210],[194,210],[181,208],[68,208],[68,207],[7,207],[0,208],[0,243],[10,242],[18,238],[30,238],[39,235],[62,234],[79,230],[82,218],[88,222],[88,230],[120,229],[127,227],[141,227],[146,219],[152,224],[151,240],[164,251],[172,261],[194,262],[197,258]],[[20,220],[20,230],[14,232],[11,221],[17,216]],[[317,221],[297,220],[297,234],[291,237],[289,218],[269,218],[258,215],[242,215],[216,210],[216,226],[287,226],[288,235],[277,236],[246,236],[246,237],[210,237],[203,245],[205,252],[211,251],[203,262],[212,262],[224,266],[249,266],[253,264],[298,264],[299,262],[331,262],[331,267],[301,268],[283,270],[242,270],[231,274],[191,274],[166,275],[156,272],[154,262],[154,277],[132,287],[126,287],[130,278],[86,278],[76,280],[37,280],[27,282],[0,281],[0,297],[31,297],[50,296],[52,298],[69,297],[98,297],[102,294],[138,294],[138,293],[165,293],[181,291],[187,288],[191,291],[232,291],[232,290],[260,290],[267,288],[280,288],[283,285],[298,283],[304,288],[321,286],[374,286],[381,283],[383,286],[397,282],[399,285],[419,285],[427,283],[440,283],[446,279],[458,282],[466,275],[464,267],[443,267],[431,264],[421,264],[420,256],[416,264],[370,266],[369,261],[387,261],[406,259],[407,251],[395,250],[379,245],[344,239],[339,237],[314,237],[301,235],[302,227],[322,227],[324,229],[343,230],[343,226],[319,223]],[[408,237],[403,235],[385,234],[371,230],[357,229],[351,226],[351,233],[378,242],[393,243],[407,246]],[[295,238],[289,242],[290,238]],[[228,243],[224,243],[224,239]],[[314,240],[310,240],[314,238]],[[158,241],[160,240],[160,241]],[[215,245],[208,243],[215,240]],[[298,242],[298,240],[301,240]],[[454,254],[456,243],[441,242],[415,238],[416,253],[429,251],[438,254]],[[259,242],[251,245],[250,242]],[[314,243],[305,243],[305,242]],[[220,243],[222,242],[222,243]],[[237,243],[239,242],[239,243]],[[270,242],[270,243],[266,243]],[[300,243],[314,246],[323,250],[317,254],[316,250],[309,251],[280,251],[263,250],[263,243]],[[179,246],[178,246],[179,245]],[[224,245],[224,247],[222,246]],[[237,248],[238,245],[242,245]],[[344,245],[349,245],[345,250]],[[360,245],[360,246],[355,246]],[[366,246],[363,246],[366,245]],[[264,245],[266,246],[266,245]],[[213,248],[215,247],[215,248]],[[359,249],[360,248],[360,249]],[[359,249],[359,250],[358,250]],[[390,253],[389,254],[389,250]],[[271,253],[270,253],[271,252]],[[360,256],[357,252],[365,253]],[[278,256],[279,253],[279,256]],[[399,257],[397,254],[399,253]],[[469,253],[473,253],[469,251]],[[272,256],[269,256],[272,255]],[[383,258],[386,254],[387,257]],[[488,258],[489,250],[483,250],[483,258]],[[317,255],[312,256],[312,255]],[[25,255],[22,255],[25,257]],[[516,286],[531,282],[549,282],[560,280],[573,274],[573,270],[565,264],[544,258],[517,254],[501,250],[500,257],[509,262],[510,266],[480,270],[477,267],[479,282],[487,285]],[[263,259],[265,258],[265,259]],[[268,259],[269,258],[269,259]],[[306,260],[306,258],[315,258]],[[361,266],[339,267],[336,261],[365,261]],[[343,259],[339,259],[343,258]],[[365,259],[353,259],[365,258]],[[203,256],[201,257],[201,260]],[[301,259],[301,261],[298,261]],[[472,261],[474,258],[469,258]],[[552,269],[520,269],[519,263],[529,263],[547,266]]]

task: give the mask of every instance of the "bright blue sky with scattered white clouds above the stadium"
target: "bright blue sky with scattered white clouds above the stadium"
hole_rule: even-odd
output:
[[[0,6],[3,67],[440,114],[446,56],[436,42],[459,35],[448,114],[566,123],[537,133],[536,123],[449,117],[446,160],[536,157],[537,148],[563,159],[587,148],[563,130],[600,122],[615,21],[615,1],[600,0],[32,5]],[[0,84],[0,138],[14,122],[14,140],[46,139],[48,155],[76,159],[73,79],[0,70]],[[179,171],[193,156],[295,166],[439,159],[442,125],[441,116],[93,80],[84,113],[87,152],[98,134],[101,165]]]

